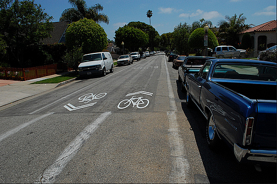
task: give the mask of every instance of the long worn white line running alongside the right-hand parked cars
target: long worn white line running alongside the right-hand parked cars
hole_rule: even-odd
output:
[[[169,93],[170,111],[167,112],[169,119],[169,146],[170,146],[170,159],[172,162],[172,173],[170,175],[170,183],[190,183],[189,175],[189,161],[186,159],[183,140],[179,135],[178,122],[175,112],[177,111],[176,102],[174,100],[174,93],[170,81],[167,63],[164,58],[164,64],[167,76],[167,86]]]

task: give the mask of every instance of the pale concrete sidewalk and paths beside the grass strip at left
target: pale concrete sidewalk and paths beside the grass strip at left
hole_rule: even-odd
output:
[[[74,78],[59,84],[31,84],[36,81],[41,81],[68,73],[70,73],[70,71],[32,79],[29,81],[0,80],[0,107],[75,81]]]

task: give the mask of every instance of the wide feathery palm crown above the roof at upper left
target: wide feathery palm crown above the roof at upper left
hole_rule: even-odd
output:
[[[104,22],[109,24],[108,16],[99,13],[103,10],[101,4],[95,4],[94,6],[87,7],[85,0],[69,0],[69,3],[73,8],[65,9],[60,17],[60,21],[76,22],[83,18],[92,19],[95,22]]]

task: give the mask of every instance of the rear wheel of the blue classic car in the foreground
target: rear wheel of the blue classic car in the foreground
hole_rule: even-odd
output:
[[[206,125],[206,138],[211,150],[217,150],[220,138],[216,131],[216,125],[212,113],[209,113]]]

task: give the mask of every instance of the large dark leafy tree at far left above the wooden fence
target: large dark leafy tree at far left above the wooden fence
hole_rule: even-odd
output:
[[[52,17],[43,12],[34,0],[3,0],[0,3],[0,34],[7,44],[11,66],[25,67],[26,49],[38,47],[53,30]]]

